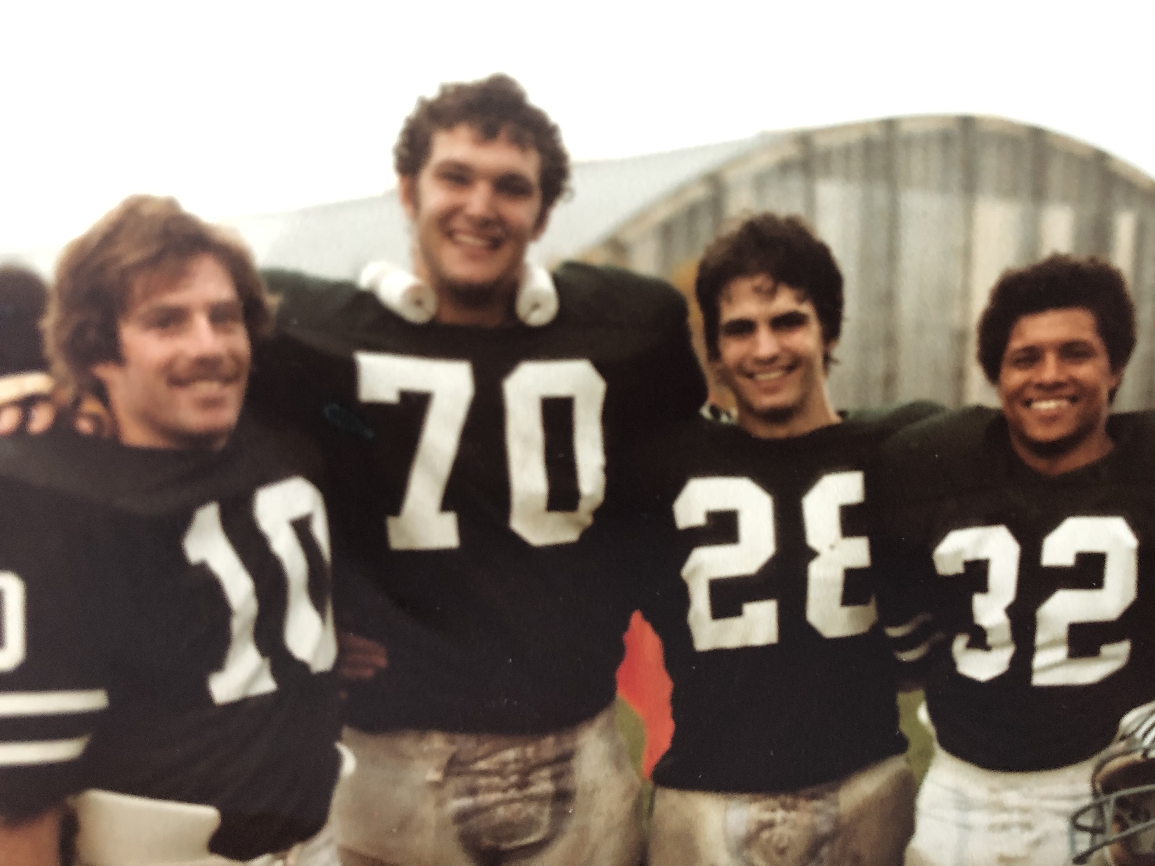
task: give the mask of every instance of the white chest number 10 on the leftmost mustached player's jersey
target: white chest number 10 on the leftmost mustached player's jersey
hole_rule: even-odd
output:
[[[308,560],[300,546],[293,521],[308,518],[310,535],[329,561],[329,525],[320,492],[304,478],[286,478],[266,485],[253,497],[253,516],[280,560],[288,582],[284,644],[297,659],[315,672],[328,671],[337,657],[333,628],[333,603],[318,611],[308,597]],[[229,650],[221,670],[209,675],[209,693],[217,704],[267,694],[276,689],[269,659],[253,639],[258,598],[253,576],[240,561],[221,524],[216,502],[201,506],[185,532],[185,555],[193,565],[204,565],[224,590],[232,611]]]

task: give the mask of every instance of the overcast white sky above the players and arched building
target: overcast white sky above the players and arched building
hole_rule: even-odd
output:
[[[133,192],[208,217],[371,195],[418,95],[504,70],[576,159],[908,113],[1155,174],[1155,2],[0,2],[0,251]]]

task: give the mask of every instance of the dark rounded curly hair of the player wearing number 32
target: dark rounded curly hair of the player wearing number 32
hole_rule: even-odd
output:
[[[1095,256],[1055,254],[1029,267],[1004,271],[991,289],[978,320],[978,363],[991,385],[998,385],[1015,322],[1033,313],[1070,307],[1090,311],[1111,369],[1122,372],[1135,349],[1135,307],[1123,274]]]

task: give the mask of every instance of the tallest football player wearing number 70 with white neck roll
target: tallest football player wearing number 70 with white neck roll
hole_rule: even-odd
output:
[[[253,385],[321,443],[356,562],[338,606],[388,651],[349,689],[343,860],[635,863],[640,783],[614,724],[632,609],[606,490],[705,400],[686,304],[526,261],[568,157],[512,79],[422,99],[394,155],[412,270],[269,274],[280,333]]]

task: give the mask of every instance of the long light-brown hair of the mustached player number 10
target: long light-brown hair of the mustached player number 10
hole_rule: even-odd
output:
[[[142,277],[179,278],[189,260],[214,256],[232,277],[249,339],[273,328],[273,301],[248,247],[231,230],[206,223],[176,199],[132,195],[73,240],[57,264],[40,328],[62,394],[103,395],[92,367],[120,360],[119,321]],[[152,282],[148,281],[152,289]]]

